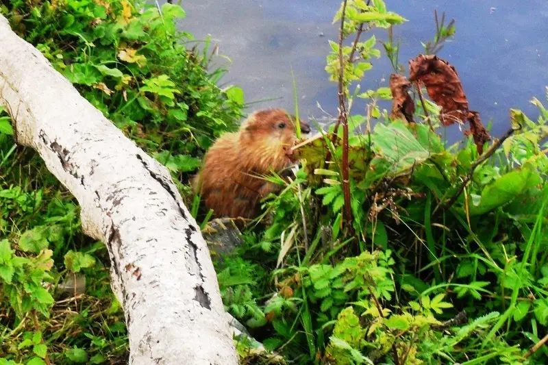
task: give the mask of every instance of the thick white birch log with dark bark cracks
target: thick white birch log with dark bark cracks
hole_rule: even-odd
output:
[[[164,168],[81,97],[0,15],[0,104],[105,242],[129,364],[237,364],[214,268]]]

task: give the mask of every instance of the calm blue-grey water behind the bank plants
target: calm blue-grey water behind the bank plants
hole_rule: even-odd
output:
[[[247,102],[280,98],[250,110],[293,110],[292,67],[301,114],[322,120],[325,112],[336,115],[336,84],[324,67],[327,40],[337,38],[332,18],[339,5],[338,0],[186,0],[187,18],[180,28],[197,39],[212,35],[220,53],[232,59],[223,82],[241,86]],[[494,136],[508,129],[509,108],[536,118],[529,100],[545,101],[548,86],[547,0],[386,0],[386,5],[409,20],[395,28],[405,66],[423,51],[421,41],[433,38],[434,9],[455,18],[456,36],[438,55],[456,67],[471,110],[481,113],[484,124],[493,121]],[[386,39],[384,31],[375,34]],[[388,86],[391,72],[384,56],[373,61],[361,89]],[[354,112],[364,113],[360,108],[356,105]],[[460,138],[456,128],[449,134],[450,140]]]

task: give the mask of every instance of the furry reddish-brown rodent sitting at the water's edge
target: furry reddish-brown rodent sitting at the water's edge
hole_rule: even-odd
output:
[[[300,125],[303,134],[310,133],[308,124]],[[192,179],[192,190],[219,218],[256,218],[260,199],[279,190],[260,175],[290,166],[288,147],[296,141],[294,116],[281,109],[253,112],[237,132],[216,140]]]

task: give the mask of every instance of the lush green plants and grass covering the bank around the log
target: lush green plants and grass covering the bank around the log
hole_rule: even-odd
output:
[[[125,0],[0,4],[84,97],[169,167],[198,212],[188,174],[236,126],[244,101],[240,89],[216,87],[223,70],[204,71],[208,43],[198,52],[175,30],[184,11]],[[546,364],[547,347],[530,350],[548,327],[548,111],[538,99],[536,121],[510,110],[513,130],[482,155],[472,136],[451,146],[438,136],[432,101],[417,100],[416,124],[391,117],[379,106],[390,88],[356,84],[381,49],[403,73],[391,37],[379,45],[367,33],[405,19],[382,0],[368,4],[340,8],[350,42],[331,42],[326,67],[340,101],[368,99],[367,112],[348,110],[301,147],[296,179],[278,179],[286,188],[264,202],[269,225],[249,227],[216,262],[226,310],[301,364]],[[425,53],[454,33],[453,22],[436,24]],[[75,201],[11,134],[0,116],[0,364],[122,364],[108,253],[82,235]],[[82,275],[85,293],[75,295]],[[260,363],[239,340],[242,362]]]

